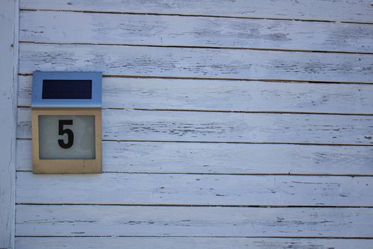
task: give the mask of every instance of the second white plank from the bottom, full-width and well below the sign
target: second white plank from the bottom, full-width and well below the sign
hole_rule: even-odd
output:
[[[372,208],[16,207],[16,235],[372,237]]]

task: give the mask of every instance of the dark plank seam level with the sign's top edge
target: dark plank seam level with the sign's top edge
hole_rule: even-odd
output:
[[[18,73],[20,76],[31,76],[33,73]],[[356,84],[356,85],[373,85],[373,82],[356,82],[356,81],[328,81],[328,80],[288,80],[288,79],[261,79],[261,78],[208,78],[208,77],[183,77],[183,76],[148,76],[148,75],[102,75],[104,78],[140,78],[140,79],[163,79],[163,80],[232,80],[232,81],[263,81],[273,83],[323,83],[323,84]]]

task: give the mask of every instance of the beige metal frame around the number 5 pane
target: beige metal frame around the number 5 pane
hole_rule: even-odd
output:
[[[39,116],[74,115],[94,116],[95,159],[40,159],[39,158]],[[33,173],[102,173],[102,109],[101,108],[50,108],[31,110],[33,140]]]

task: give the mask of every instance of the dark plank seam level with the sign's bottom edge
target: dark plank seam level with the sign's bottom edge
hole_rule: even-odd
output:
[[[16,169],[16,172],[33,172],[28,169]],[[341,176],[341,177],[372,177],[373,174],[293,174],[293,173],[206,173],[206,172],[146,172],[146,171],[102,171],[103,174],[160,174],[160,175],[212,175],[212,176]],[[63,174],[68,176],[69,174]]]

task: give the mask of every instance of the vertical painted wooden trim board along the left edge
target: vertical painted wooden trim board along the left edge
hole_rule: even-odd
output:
[[[14,248],[18,6],[0,1],[0,248]]]

